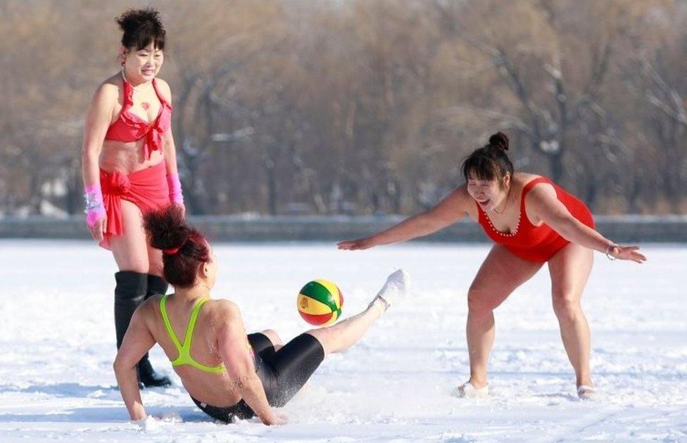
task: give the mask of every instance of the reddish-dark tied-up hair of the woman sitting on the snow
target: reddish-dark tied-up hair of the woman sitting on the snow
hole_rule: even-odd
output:
[[[163,250],[163,275],[178,288],[188,288],[196,281],[198,267],[208,263],[208,241],[184,221],[182,209],[170,205],[144,216],[144,228],[153,248]]]

